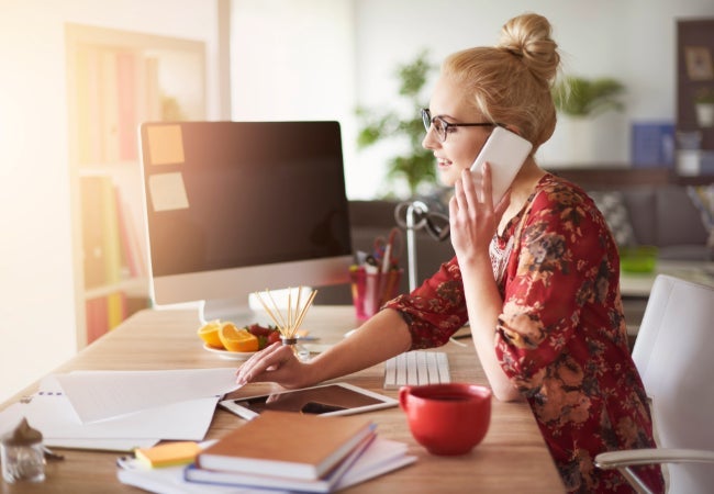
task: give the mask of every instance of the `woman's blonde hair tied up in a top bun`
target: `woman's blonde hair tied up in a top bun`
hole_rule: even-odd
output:
[[[491,122],[515,128],[535,151],[553,135],[556,109],[550,89],[560,66],[550,22],[527,13],[511,19],[497,46],[457,52],[442,75],[453,78]]]

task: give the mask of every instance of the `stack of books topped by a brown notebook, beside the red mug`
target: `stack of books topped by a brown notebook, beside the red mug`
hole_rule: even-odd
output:
[[[413,463],[406,445],[377,437],[362,415],[267,411],[201,451],[189,483],[335,492]]]

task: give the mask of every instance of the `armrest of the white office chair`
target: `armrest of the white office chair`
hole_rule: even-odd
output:
[[[625,451],[609,451],[595,457],[601,469],[621,469],[652,463],[714,463],[714,451],[676,448],[645,448]]]

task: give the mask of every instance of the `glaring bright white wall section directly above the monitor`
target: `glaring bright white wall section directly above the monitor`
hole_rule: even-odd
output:
[[[357,132],[353,0],[233,0],[232,9],[233,120],[336,120],[348,160]],[[349,188],[360,170],[345,175]]]

